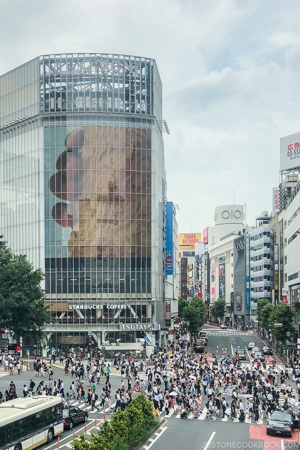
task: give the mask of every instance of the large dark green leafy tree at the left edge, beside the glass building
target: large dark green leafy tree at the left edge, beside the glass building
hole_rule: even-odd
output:
[[[40,287],[43,277],[26,255],[13,254],[0,240],[0,325],[16,337],[41,338],[44,323],[50,320]]]

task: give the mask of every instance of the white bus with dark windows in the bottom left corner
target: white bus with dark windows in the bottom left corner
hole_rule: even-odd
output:
[[[61,398],[15,398],[0,404],[0,450],[25,450],[63,431]]]

